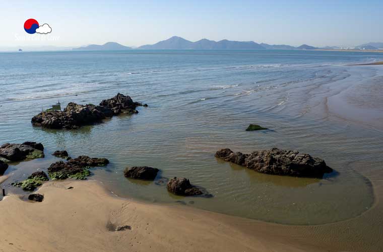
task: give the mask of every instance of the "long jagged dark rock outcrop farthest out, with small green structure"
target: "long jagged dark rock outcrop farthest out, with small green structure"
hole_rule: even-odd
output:
[[[106,117],[120,113],[138,113],[130,96],[118,93],[113,98],[103,100],[99,106],[69,103],[63,111],[47,110],[35,115],[32,124],[49,129],[78,129],[82,125],[92,124]]]

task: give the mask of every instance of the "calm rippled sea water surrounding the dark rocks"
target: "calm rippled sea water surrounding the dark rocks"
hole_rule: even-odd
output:
[[[183,201],[210,211],[286,224],[349,219],[374,202],[363,175],[383,162],[383,71],[346,66],[383,54],[330,51],[110,51],[0,53],[0,144],[41,142],[46,158],[12,164],[8,182],[59,160],[106,157],[91,178],[121,197]],[[57,101],[98,103],[117,92],[148,103],[73,131],[32,127]],[[246,132],[249,123],[271,130]],[[260,174],[214,157],[221,148],[271,147],[321,157],[323,179]],[[214,195],[182,198],[165,186],[123,177],[126,166],[187,177]],[[355,168],[356,167],[356,168]],[[21,193],[18,188],[8,190]]]

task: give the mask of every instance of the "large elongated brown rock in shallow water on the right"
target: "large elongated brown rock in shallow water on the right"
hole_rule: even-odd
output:
[[[298,151],[277,148],[254,151],[250,154],[234,153],[230,149],[222,149],[217,151],[215,156],[267,174],[322,178],[324,173],[333,171],[323,159]]]

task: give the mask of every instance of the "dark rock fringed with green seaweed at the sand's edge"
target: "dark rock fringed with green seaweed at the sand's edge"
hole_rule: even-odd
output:
[[[106,158],[79,156],[70,159],[68,162],[59,161],[51,164],[48,168],[48,174],[51,179],[67,179],[69,177],[86,179],[86,177],[91,174],[88,168],[104,166],[108,163],[109,160]]]

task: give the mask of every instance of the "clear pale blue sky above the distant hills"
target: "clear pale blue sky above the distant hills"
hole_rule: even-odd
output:
[[[172,36],[294,46],[383,42],[382,0],[0,1],[0,47],[140,46]],[[26,33],[29,18],[52,32]]]

